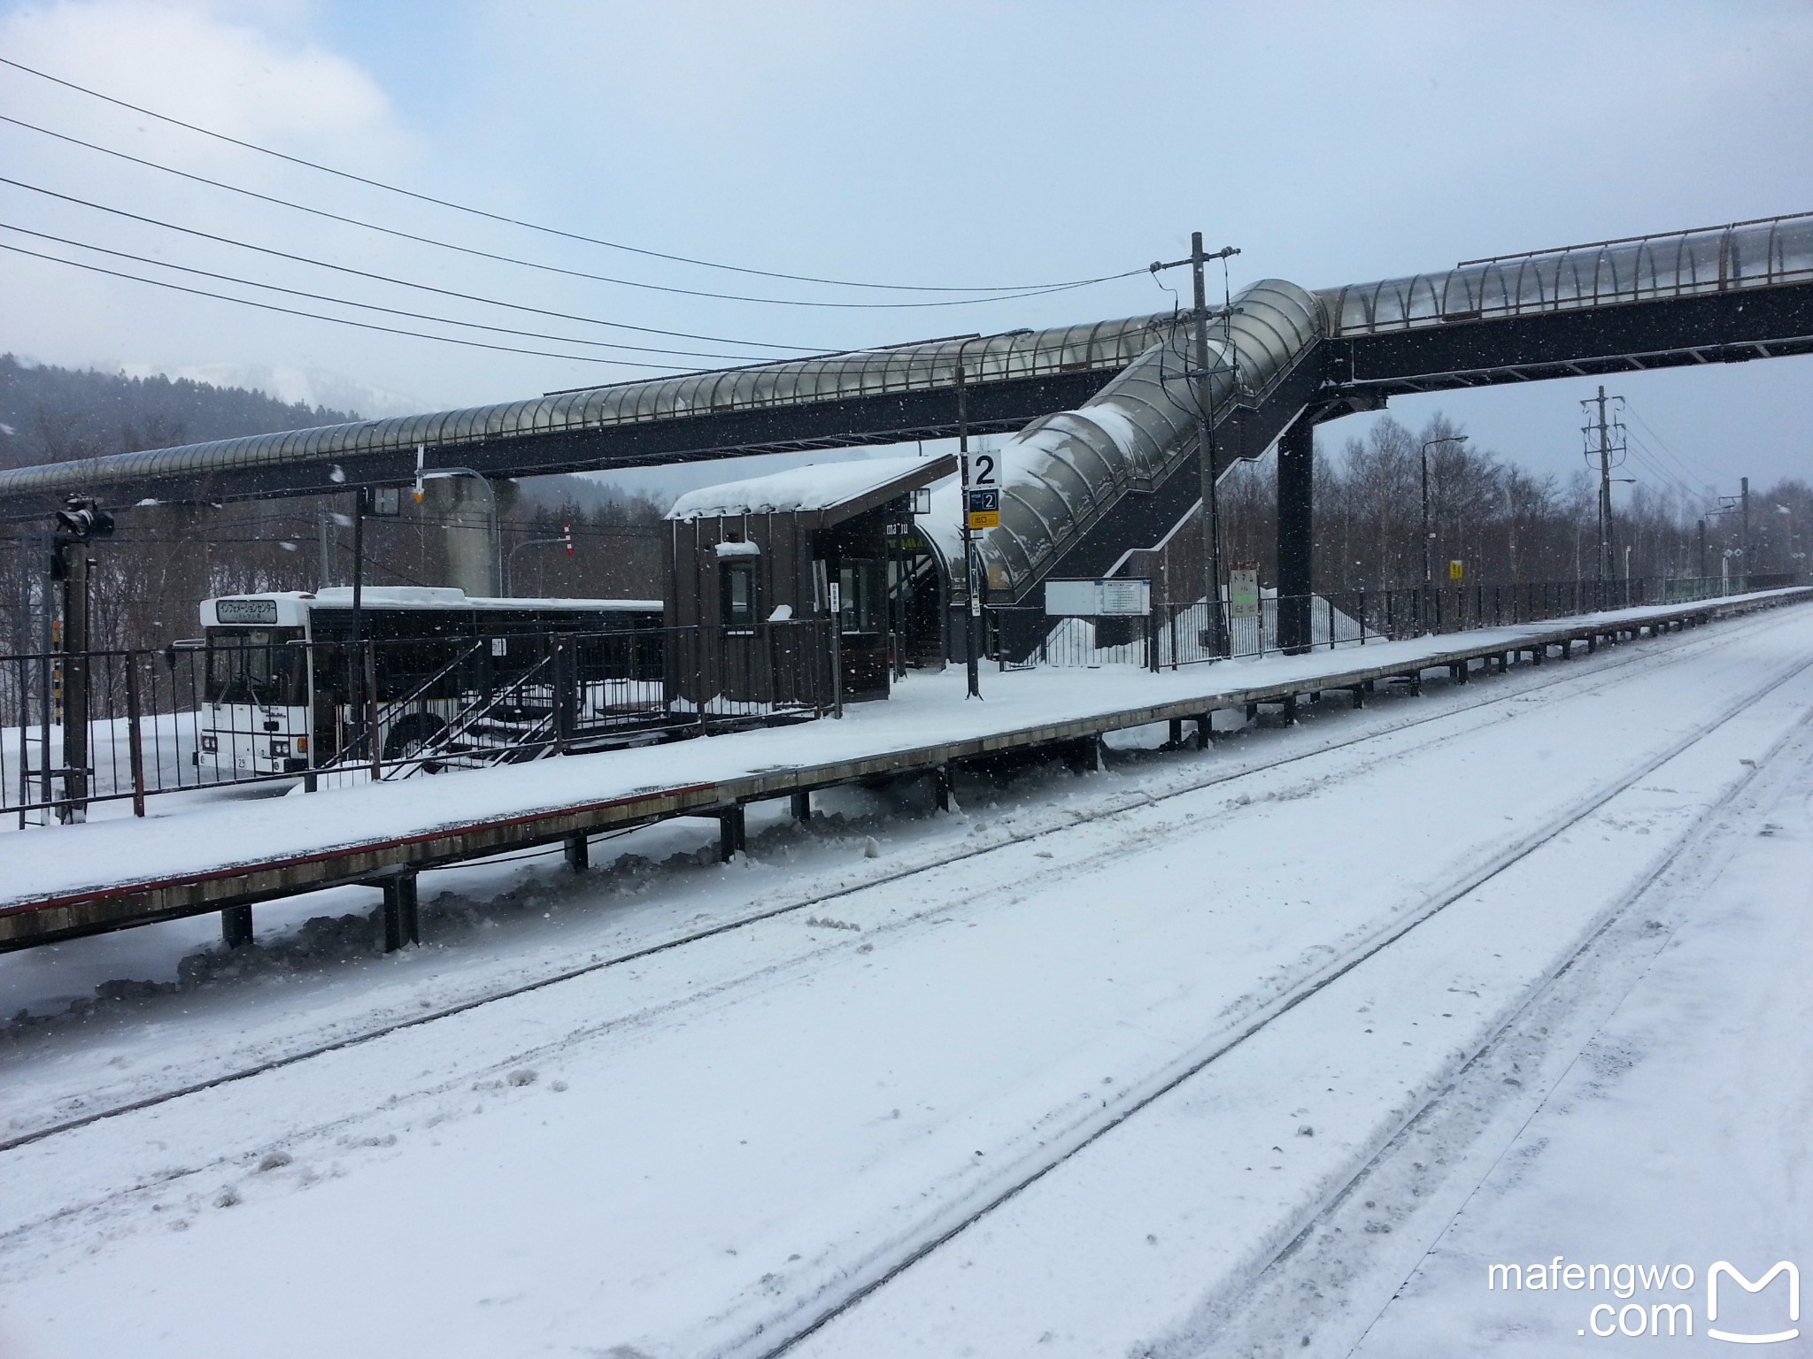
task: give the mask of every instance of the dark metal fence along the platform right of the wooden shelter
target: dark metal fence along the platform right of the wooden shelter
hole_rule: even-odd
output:
[[[1802,573],[1769,576],[1708,576],[1688,580],[1561,580],[1516,585],[1441,585],[1389,591],[1331,591],[1327,594],[1264,596],[1256,611],[1235,614],[1220,602],[1224,654],[1211,647],[1209,603],[1155,603],[1144,618],[1064,618],[1026,656],[1012,660],[999,647],[1003,669],[1139,665],[1151,670],[1202,661],[1264,656],[1282,651],[1280,618],[1296,623],[1307,649],[1400,641],[1429,632],[1465,632],[1481,627],[1537,623],[1552,618],[1632,609],[1644,603],[1692,603],[1748,591],[1802,583]],[[997,623],[1026,607],[994,609]],[[1294,614],[1294,618],[1293,618]]]

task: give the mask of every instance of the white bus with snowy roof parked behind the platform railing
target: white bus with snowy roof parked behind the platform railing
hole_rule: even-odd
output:
[[[553,721],[557,676],[549,638],[633,632],[609,658],[586,651],[580,689],[596,705],[604,681],[658,689],[660,600],[488,600],[459,589],[377,585],[361,591],[354,640],[352,589],[223,594],[201,603],[207,680],[196,766],[218,779],[305,774],[370,761],[377,698],[384,761],[515,750]],[[198,643],[179,643],[196,647]]]

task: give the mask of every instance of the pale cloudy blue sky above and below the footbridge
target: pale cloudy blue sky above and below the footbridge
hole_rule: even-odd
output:
[[[607,241],[863,283],[999,286],[1236,245],[1233,286],[1813,210],[1813,5],[245,4],[0,0],[0,56],[361,176]],[[673,265],[486,223],[172,129],[0,67],[0,114],[471,250],[812,303],[925,301]],[[519,306],[424,294],[0,185],[0,223],[192,268],[564,337],[459,332],[256,294],[0,232],[0,243],[560,353],[718,366],[1162,310],[1149,277],[983,306],[718,301],[482,261],[308,217],[0,123],[0,174],[91,203]],[[256,312],[0,252],[0,350],[134,371],[314,373],[468,406],[653,371]],[[711,341],[606,330],[615,321]],[[294,381],[294,379],[292,379]],[[1592,382],[1401,400],[1561,475]],[[1695,486],[1808,477],[1813,361],[1621,377]],[[379,399],[366,400],[368,406]],[[1323,426],[1340,440],[1360,419]],[[1661,444],[1679,458],[1670,462]],[[1632,467],[1657,478],[1641,462]]]

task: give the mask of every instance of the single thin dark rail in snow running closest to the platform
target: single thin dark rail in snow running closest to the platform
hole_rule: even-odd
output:
[[[1556,690],[1556,689],[1565,689],[1565,687],[1570,687],[1570,685],[1592,685],[1592,683],[1599,681],[1603,676],[1606,676],[1608,672],[1617,672],[1617,670],[1624,670],[1624,669],[1635,669],[1639,672],[1644,672],[1644,670],[1653,670],[1653,669],[1661,669],[1661,667],[1668,667],[1668,665],[1677,665],[1677,663],[1688,661],[1688,660],[1692,660],[1692,658],[1695,658],[1695,656],[1699,656],[1699,654],[1702,654],[1706,651],[1711,651],[1711,649],[1717,649],[1721,645],[1726,645],[1726,643],[1730,643],[1731,640],[1735,640],[1739,636],[1744,636],[1748,632],[1753,632],[1753,631],[1759,631],[1762,627],[1768,627],[1769,622],[1771,620],[1768,616],[1762,616],[1762,618],[1740,620],[1740,622],[1731,623],[1728,627],[1721,627],[1721,629],[1717,629],[1715,634],[1710,634],[1710,636],[1704,634],[1704,632],[1693,632],[1693,634],[1684,634],[1684,636],[1677,634],[1677,636],[1672,636],[1672,638],[1661,638],[1661,640],[1655,640],[1655,641],[1661,641],[1659,647],[1655,645],[1655,641],[1652,641],[1652,643],[1644,643],[1643,651],[1639,651],[1635,654],[1623,654],[1623,656],[1615,656],[1615,658],[1608,656],[1605,660],[1599,660],[1597,663],[1588,663],[1588,665],[1574,663],[1570,669],[1566,669],[1565,672],[1554,674],[1552,678],[1545,678],[1545,680],[1528,678],[1527,683],[1521,683],[1516,689],[1510,689],[1507,692],[1494,692],[1494,694],[1487,694],[1487,696],[1479,696],[1479,698],[1467,698],[1467,699],[1461,699],[1461,701],[1454,701],[1454,703],[1445,705],[1440,712],[1401,718],[1401,719],[1387,721],[1387,723],[1382,723],[1382,725],[1376,725],[1376,727],[1367,727],[1362,732],[1354,732],[1354,734],[1347,734],[1347,736],[1336,736],[1336,737],[1331,737],[1331,739],[1325,739],[1325,741],[1318,741],[1316,745],[1302,748],[1302,750],[1293,750],[1293,752],[1273,756],[1273,757],[1262,757],[1262,759],[1244,761],[1238,768],[1215,770],[1211,774],[1206,774],[1204,777],[1188,779],[1184,783],[1169,785],[1169,786],[1162,788],[1160,792],[1126,792],[1126,794],[1117,794],[1113,797],[1104,799],[1100,805],[1097,805],[1097,806],[1093,806],[1090,810],[1068,812],[1066,817],[1062,819],[1062,823],[1055,824],[1055,826],[1053,824],[1041,824],[1041,826],[1033,826],[1033,828],[1026,828],[1026,830],[1015,830],[1015,832],[1010,832],[1010,834],[1004,834],[1004,835],[995,835],[995,837],[988,839],[983,844],[966,844],[966,846],[957,848],[957,850],[937,850],[937,852],[934,852],[928,857],[923,857],[923,859],[919,859],[916,863],[905,864],[905,866],[896,868],[892,872],[867,875],[867,877],[863,877],[861,881],[856,881],[856,882],[845,882],[845,884],[839,884],[839,886],[834,886],[834,888],[829,888],[829,890],[810,892],[807,895],[792,897],[792,899],[783,901],[780,904],[765,906],[761,910],[749,911],[745,915],[738,915],[738,917],[729,919],[729,920],[720,920],[720,922],[711,924],[711,926],[702,928],[702,930],[689,930],[685,933],[674,935],[671,939],[662,939],[662,940],[653,942],[653,944],[644,944],[644,946],[638,946],[638,948],[629,948],[629,949],[624,949],[624,951],[609,953],[606,957],[589,959],[584,964],[577,964],[577,966],[569,966],[569,968],[560,968],[557,971],[546,973],[542,977],[535,977],[535,978],[526,980],[526,982],[519,982],[519,984],[511,984],[511,986],[504,986],[504,988],[497,988],[497,989],[488,989],[488,991],[482,991],[479,995],[466,997],[466,998],[462,998],[462,1000],[459,1000],[455,1004],[437,1006],[437,1007],[431,1007],[431,1009],[424,1009],[422,1013],[406,1015],[402,1018],[379,1022],[379,1024],[373,1024],[370,1027],[363,1027],[363,1029],[359,1029],[355,1033],[339,1035],[339,1036],[334,1036],[334,1038],[325,1040],[325,1042],[310,1044],[310,1046],[305,1046],[305,1047],[299,1047],[299,1049],[294,1049],[294,1051],[281,1053],[277,1056],[270,1056],[267,1060],[248,1062],[248,1064],[245,1064],[241,1067],[234,1067],[234,1069],[225,1071],[225,1073],[208,1075],[205,1078],[183,1082],[183,1084],[172,1085],[169,1089],[154,1091],[150,1094],[143,1094],[143,1096],[138,1096],[138,1098],[120,1100],[120,1102],[114,1102],[114,1104],[107,1104],[103,1107],[87,1109],[82,1114],[62,1118],[62,1120],[56,1120],[56,1122],[45,1123],[42,1127],[36,1127],[36,1129],[27,1129],[24,1132],[15,1132],[11,1136],[0,1138],[0,1156],[4,1156],[5,1152],[20,1151],[24,1147],[44,1143],[47,1140],[53,1140],[53,1138],[67,1134],[67,1132],[76,1132],[80,1129],[91,1127],[94,1123],[102,1123],[102,1122],[111,1120],[111,1118],[120,1118],[123,1114],[132,1114],[132,1113],[141,1113],[141,1111],[147,1111],[147,1109],[156,1109],[158,1105],[167,1105],[167,1104],[172,1104],[176,1100],[183,1100],[187,1096],[194,1096],[194,1094],[201,1094],[201,1093],[210,1091],[210,1089],[218,1089],[221,1085],[232,1085],[232,1084],[238,1084],[238,1082],[252,1080],[256,1076],[261,1076],[261,1075],[267,1075],[267,1073],[272,1073],[272,1071],[279,1071],[279,1069],[292,1067],[292,1065],[297,1065],[297,1064],[305,1064],[305,1062],[310,1062],[310,1060],[332,1055],[332,1053],[339,1053],[339,1051],[346,1051],[346,1049],[352,1049],[352,1047],[359,1047],[359,1046],[364,1046],[364,1044],[386,1038],[386,1036],[395,1035],[395,1033],[402,1033],[402,1031],[408,1031],[408,1029],[419,1029],[419,1027],[424,1027],[424,1026],[431,1026],[431,1024],[453,1018],[457,1015],[464,1015],[464,1013],[470,1013],[473,1009],[480,1009],[480,1007],[490,1006],[490,1004],[497,1004],[497,1002],[502,1002],[502,1000],[511,1000],[515,997],[524,997],[524,995],[529,995],[529,993],[535,993],[535,991],[544,991],[544,989],[549,989],[549,988],[557,988],[557,986],[560,986],[564,982],[571,982],[571,980],[577,980],[580,977],[587,977],[587,975],[593,975],[593,973],[609,971],[609,969],[615,969],[615,968],[625,968],[625,966],[631,966],[631,964],[636,964],[636,962],[644,962],[647,959],[654,959],[654,957],[660,957],[664,953],[673,953],[676,949],[684,949],[684,948],[693,946],[693,944],[700,944],[700,942],[705,942],[705,940],[720,939],[723,935],[731,935],[731,933],[736,933],[736,931],[742,931],[742,930],[751,930],[754,926],[760,926],[763,922],[769,922],[769,920],[774,920],[774,919],[780,919],[780,917],[798,915],[801,911],[810,911],[810,910],[825,906],[829,902],[834,902],[834,901],[839,901],[839,899],[847,899],[847,897],[852,897],[852,895],[858,895],[858,893],[872,892],[876,888],[885,888],[888,884],[903,882],[903,881],[908,881],[908,879],[914,879],[914,877],[919,877],[919,875],[925,875],[925,873],[932,873],[932,872],[941,870],[941,868],[948,868],[952,864],[961,864],[965,861],[974,861],[974,859],[984,859],[988,855],[995,855],[995,853],[1001,853],[1004,850],[1012,850],[1013,846],[1019,846],[1019,844],[1026,844],[1026,843],[1033,843],[1033,841],[1041,841],[1041,839],[1046,839],[1046,837],[1052,837],[1052,835],[1064,834],[1064,832],[1073,830],[1075,826],[1081,826],[1081,824],[1099,823],[1099,821],[1110,821],[1110,819],[1124,815],[1128,812],[1135,812],[1135,810],[1142,810],[1142,808],[1148,808],[1148,806],[1153,806],[1153,805],[1159,805],[1159,803],[1166,803],[1166,801],[1173,801],[1173,799],[1178,799],[1178,797],[1186,797],[1186,795],[1191,795],[1191,794],[1197,794],[1197,792],[1204,792],[1207,788],[1224,786],[1224,785],[1235,785],[1235,783],[1238,783],[1242,779],[1253,779],[1253,777],[1262,776],[1262,774],[1271,774],[1275,770],[1280,770],[1280,768],[1285,768],[1285,766],[1291,766],[1291,765],[1298,765],[1298,763],[1304,763],[1304,761],[1318,759],[1318,757],[1323,757],[1323,756],[1329,756],[1329,754],[1336,754],[1336,752],[1342,752],[1342,750],[1349,750],[1349,748],[1356,748],[1356,747],[1363,748],[1363,747],[1367,747],[1371,743],[1378,743],[1378,741],[1383,741],[1385,737],[1392,737],[1392,736],[1398,736],[1398,734],[1403,734],[1403,732],[1414,732],[1418,728],[1432,727],[1432,725],[1440,725],[1440,723],[1452,723],[1454,719],[1463,718],[1463,716],[1472,714],[1472,712],[1478,712],[1481,708],[1490,708],[1490,707],[1499,707],[1499,705],[1514,703],[1514,701],[1519,701],[1519,699],[1527,699],[1527,698],[1530,698],[1534,694],[1543,694],[1543,692]],[[1742,707],[1742,703],[1737,705],[1737,708],[1740,708],[1740,707]],[[1503,719],[1505,718],[1498,718],[1498,721],[1503,721]],[[1724,719],[1721,719],[1721,721],[1724,721]],[[1449,741],[1449,739],[1458,739],[1459,736],[1465,736],[1465,734],[1470,734],[1470,732],[1476,732],[1476,730],[1479,730],[1479,728],[1478,727],[1463,727],[1461,730],[1456,730],[1456,732],[1438,732],[1438,734],[1434,734],[1432,737],[1429,737],[1429,739],[1425,739],[1421,743],[1391,748],[1387,752],[1378,754],[1374,759],[1360,759],[1360,761],[1356,761],[1356,763],[1352,763],[1352,765],[1338,770],[1334,774],[1334,777],[1352,777],[1356,774],[1365,772],[1367,768],[1371,768],[1378,761],[1403,759],[1403,757],[1407,757],[1411,754],[1416,754],[1420,750],[1427,750],[1430,745],[1440,745],[1440,743]],[[1362,750],[1362,754],[1365,754],[1365,752]],[[1637,774],[1634,777],[1641,777],[1641,774]],[[1628,786],[1628,785],[1624,785],[1624,786]],[[1612,794],[1608,794],[1608,795],[1612,795]],[[1581,815],[1590,814],[1590,810],[1592,808],[1588,808]],[[1575,819],[1579,819],[1579,817],[1575,817]],[[1559,832],[1556,832],[1556,834],[1559,834]]]

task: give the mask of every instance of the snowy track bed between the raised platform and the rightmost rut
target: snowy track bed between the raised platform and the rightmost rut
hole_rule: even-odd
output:
[[[1153,759],[1128,792],[1066,781],[1042,808],[1015,794],[986,823],[926,821],[937,846],[888,839],[890,859],[943,863],[852,864],[874,877],[836,884],[836,920],[620,948],[647,964],[473,997],[383,1026],[388,1042],[350,1035],[372,1044],[357,1053],[16,1147],[0,1323],[89,1352],[143,1316],[145,1352],[176,1355],[230,1348],[256,1306],[296,1359],[417,1341],[471,1359],[1200,1354],[1217,1299],[1246,1296],[1742,766],[1804,728],[1809,656],[1806,622],[1721,629],[1514,674],[1487,712],[1449,689],[1401,736],[1378,730],[1389,710],[1342,712],[1358,739],[1302,748],[1318,734],[1298,730],[1235,770],[1226,747]],[[1010,824],[1035,808],[1041,826]],[[821,868],[778,866],[713,882],[771,911],[789,888],[832,895],[801,892],[832,888]],[[1648,917],[1623,919],[1619,937]],[[375,988],[386,1020],[431,995],[406,962]],[[497,980],[422,971],[466,995]],[[310,1018],[306,993],[265,995]],[[218,1036],[147,1076],[247,1055]],[[83,1084],[40,1065],[102,1102],[109,1051]],[[1414,1160],[1454,1151],[1416,1138]],[[373,1287],[372,1308],[314,1301]]]

